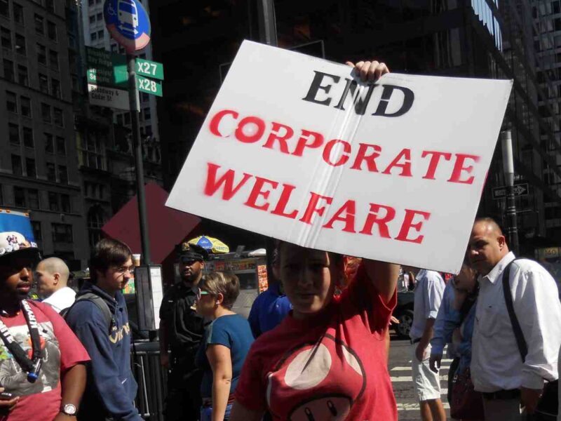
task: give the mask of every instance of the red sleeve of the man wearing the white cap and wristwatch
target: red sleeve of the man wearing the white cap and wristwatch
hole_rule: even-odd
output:
[[[86,348],[76,338],[65,319],[62,319],[60,314],[55,312],[50,305],[41,304],[40,302],[34,302],[34,304],[47,316],[50,323],[53,323],[53,330],[60,349],[60,373],[65,373],[66,370],[76,366],[76,364],[90,361]]]

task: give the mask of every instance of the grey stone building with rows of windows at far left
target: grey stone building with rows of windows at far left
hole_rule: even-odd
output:
[[[29,212],[43,255],[88,258],[73,98],[79,89],[63,0],[0,1],[0,206]]]

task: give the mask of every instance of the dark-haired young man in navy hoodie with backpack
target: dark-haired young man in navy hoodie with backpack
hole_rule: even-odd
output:
[[[65,315],[91,358],[79,421],[142,420],[133,405],[137,383],[130,370],[130,327],[121,293],[133,269],[126,244],[101,240],[90,258],[91,281]]]

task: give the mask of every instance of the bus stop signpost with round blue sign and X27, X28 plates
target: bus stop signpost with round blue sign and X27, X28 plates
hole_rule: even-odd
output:
[[[155,338],[155,330],[158,329],[156,323],[158,306],[162,300],[161,267],[151,265],[150,260],[147,208],[144,195],[144,168],[138,124],[138,113],[140,112],[138,91],[158,96],[163,95],[161,81],[148,79],[163,79],[163,65],[149,60],[135,60],[135,52],[142,50],[149,44],[151,32],[148,13],[139,0],[105,0],[103,15],[109,34],[127,52],[125,59],[126,86],[128,86],[128,103],[133,132],[133,149],[135,151],[138,215],[142,243],[142,265],[135,269],[135,283],[137,284],[140,329],[151,331],[151,338]],[[137,76],[137,73],[141,76]],[[90,76],[95,76],[97,80],[97,72],[96,74],[88,74],[88,78]]]

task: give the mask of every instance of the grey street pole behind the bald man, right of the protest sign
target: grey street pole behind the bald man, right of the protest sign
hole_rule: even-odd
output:
[[[515,253],[515,255],[518,255],[518,253],[520,252],[520,244],[518,242],[518,222],[516,220],[516,202],[514,199],[514,159],[511,129],[507,129],[501,132],[501,146],[503,149],[503,171],[506,181],[506,218],[508,220],[508,247]]]

